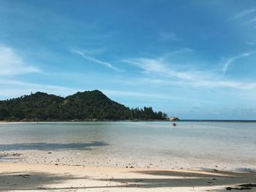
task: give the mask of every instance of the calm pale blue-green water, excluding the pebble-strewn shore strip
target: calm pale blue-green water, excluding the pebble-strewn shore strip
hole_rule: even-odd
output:
[[[255,167],[256,123],[1,123],[0,150],[72,150],[102,161],[208,160]]]

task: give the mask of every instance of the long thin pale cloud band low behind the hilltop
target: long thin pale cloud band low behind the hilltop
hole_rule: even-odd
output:
[[[1,99],[10,99],[14,97],[19,97],[23,95],[29,95],[31,92],[36,93],[37,91],[55,94],[57,96],[68,96],[78,91],[84,91],[81,88],[67,88],[57,85],[45,85],[45,84],[36,84],[30,82],[23,82],[18,80],[8,80],[8,79],[0,79],[0,98]],[[120,90],[111,90],[111,89],[100,89],[107,96],[121,96],[121,98],[138,98],[138,99],[162,99],[165,101],[204,101],[209,103],[209,101],[205,101],[202,99],[193,99],[187,98],[183,96],[172,96],[170,94],[163,93],[145,93],[140,91],[120,91]]]

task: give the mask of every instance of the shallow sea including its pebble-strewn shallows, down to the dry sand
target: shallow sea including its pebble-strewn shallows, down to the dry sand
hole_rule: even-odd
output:
[[[0,161],[21,163],[252,172],[256,123],[0,123],[0,151]]]

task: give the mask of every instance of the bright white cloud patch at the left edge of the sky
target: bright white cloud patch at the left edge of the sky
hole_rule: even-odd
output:
[[[23,58],[15,53],[12,48],[2,45],[0,45],[0,68],[1,76],[40,72],[37,67],[25,64]]]

